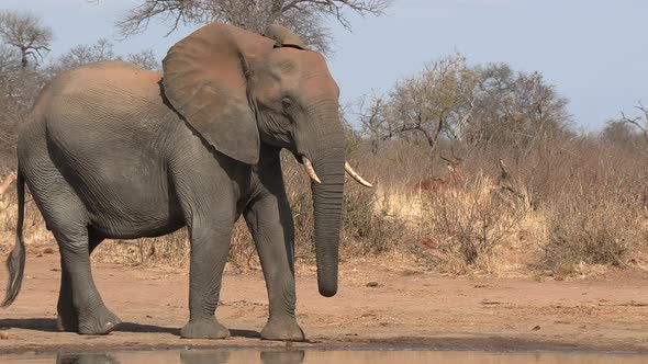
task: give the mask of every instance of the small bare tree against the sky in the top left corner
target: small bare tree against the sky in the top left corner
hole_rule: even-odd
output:
[[[21,53],[21,66],[27,68],[30,56],[35,62],[49,52],[54,36],[52,30],[30,13],[0,12],[0,38]]]

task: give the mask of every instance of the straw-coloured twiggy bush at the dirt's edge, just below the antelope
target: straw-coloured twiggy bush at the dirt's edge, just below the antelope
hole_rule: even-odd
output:
[[[442,271],[499,271],[498,259],[512,244],[528,217],[528,198],[498,189],[478,174],[463,185],[421,193],[420,247]],[[422,250],[425,252],[425,249]]]

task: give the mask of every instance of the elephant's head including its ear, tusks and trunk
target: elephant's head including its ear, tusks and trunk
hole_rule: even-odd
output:
[[[370,184],[345,162],[339,90],[324,57],[281,26],[266,34],[217,23],[198,30],[164,59],[164,92],[222,153],[254,164],[265,144],[289,149],[304,164],[312,179],[317,283],[329,297],[337,292],[345,169]]]

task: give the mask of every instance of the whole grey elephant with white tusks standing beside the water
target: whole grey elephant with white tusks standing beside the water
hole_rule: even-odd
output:
[[[292,213],[281,175],[287,149],[311,177],[317,286],[337,292],[345,170],[339,89],[325,58],[293,33],[262,36],[212,23],[175,44],[163,72],[123,61],[80,66],[41,91],[18,141],[16,241],[3,307],[25,265],[25,185],[60,251],[57,328],[107,334],[121,320],[92,278],[104,239],[187,227],[189,320],[182,338],[223,339],[216,317],[234,223],[243,215],[266,280],[260,335],[299,341]]]

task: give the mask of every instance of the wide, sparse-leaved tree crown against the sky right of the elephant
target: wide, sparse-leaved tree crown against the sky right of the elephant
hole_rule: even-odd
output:
[[[463,157],[487,148],[523,155],[572,137],[567,104],[539,72],[514,72],[506,64],[470,67],[455,54],[398,81],[388,94],[361,98],[356,120],[375,152],[386,140],[402,139],[426,145],[435,158],[453,147]]]

